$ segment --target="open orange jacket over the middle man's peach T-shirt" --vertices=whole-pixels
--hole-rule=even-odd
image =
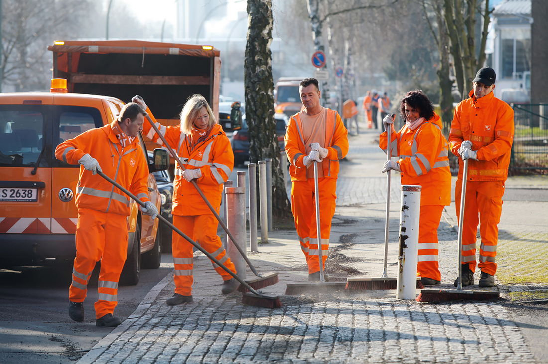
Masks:
[[[327,157],[322,161],[323,176],[336,178],[339,175],[339,160],[348,153],[347,130],[338,113],[327,109],[326,138],[317,142],[323,148],[327,148]],[[306,181],[306,166],[302,159],[310,152],[310,147],[305,146],[302,135],[302,120],[299,114],[289,119],[286,131],[286,153],[291,165],[289,174],[292,181]],[[319,166],[318,166],[319,167]]]

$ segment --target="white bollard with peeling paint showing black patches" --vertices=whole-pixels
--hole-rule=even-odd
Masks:
[[[420,186],[402,186],[399,215],[397,299],[416,298],[419,261]]]

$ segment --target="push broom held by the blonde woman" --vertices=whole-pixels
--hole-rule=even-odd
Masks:
[[[135,97],[139,97],[141,100],[142,100],[142,97],[141,96],[135,96]],[[158,127],[156,126],[156,124],[152,121],[152,119],[150,118],[149,115],[146,115],[146,118],[147,120],[149,120],[149,123],[150,125],[152,126],[152,129],[154,129],[156,131],[156,134],[158,134],[158,136],[161,138],[162,142],[164,143],[165,147],[167,147],[169,153],[173,156],[173,158],[177,161],[177,163],[179,163],[179,166],[181,167],[181,169],[184,171],[185,170],[185,167],[182,165],[182,162],[181,160],[179,159],[179,156],[175,153],[175,151],[173,150],[173,148],[169,145],[169,143],[167,142],[167,140],[165,140],[165,137],[163,136],[163,134],[158,130]],[[249,258],[247,257],[246,255],[246,252],[243,251],[242,247],[239,246],[239,244],[236,244],[236,239],[234,238],[234,236],[232,235],[232,233],[229,231],[229,228],[226,226],[225,222],[222,221],[221,217],[219,216],[219,214],[217,213],[217,211],[215,211],[215,209],[213,208],[213,206],[209,203],[208,199],[206,198],[206,195],[204,195],[204,193],[202,192],[202,189],[199,188],[198,184],[196,183],[195,180],[192,180],[190,181],[190,183],[192,183],[192,186],[194,186],[194,188],[196,188],[198,194],[202,197],[202,199],[204,200],[204,202],[206,203],[206,205],[209,207],[209,210],[213,213],[213,215],[215,216],[215,218],[217,219],[217,221],[219,222],[219,224],[221,225],[222,229],[225,230],[226,234],[229,235],[229,238],[230,240],[232,240],[234,242],[234,246],[236,247],[236,249],[239,251],[239,253],[242,255],[242,257],[244,258],[244,260],[246,261],[247,265],[249,266],[249,269],[251,269],[251,271],[253,272],[253,274],[255,275],[255,278],[254,279],[250,279],[248,280],[248,285],[249,286],[252,286],[253,288],[255,288],[256,290],[259,290],[260,288],[264,288],[264,287],[268,287],[268,286],[272,286],[272,285],[275,285],[278,283],[279,279],[278,279],[278,273],[277,272],[272,272],[272,271],[269,271],[265,274],[259,274],[257,273],[257,270],[255,269],[255,267],[253,266],[253,264],[251,263],[251,261],[249,260]],[[241,292],[244,292],[245,287],[242,286],[241,287]]]

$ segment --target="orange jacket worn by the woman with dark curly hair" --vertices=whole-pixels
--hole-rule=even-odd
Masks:
[[[449,149],[441,126],[441,119],[434,114],[415,130],[403,125],[390,135],[391,154],[399,156],[401,183],[423,187],[421,205],[451,204]],[[386,131],[379,137],[379,147],[386,152]]]

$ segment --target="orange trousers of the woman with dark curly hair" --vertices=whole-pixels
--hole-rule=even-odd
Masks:
[[[419,221],[419,263],[417,276],[441,281],[438,262],[438,227],[443,206],[420,206]]]

